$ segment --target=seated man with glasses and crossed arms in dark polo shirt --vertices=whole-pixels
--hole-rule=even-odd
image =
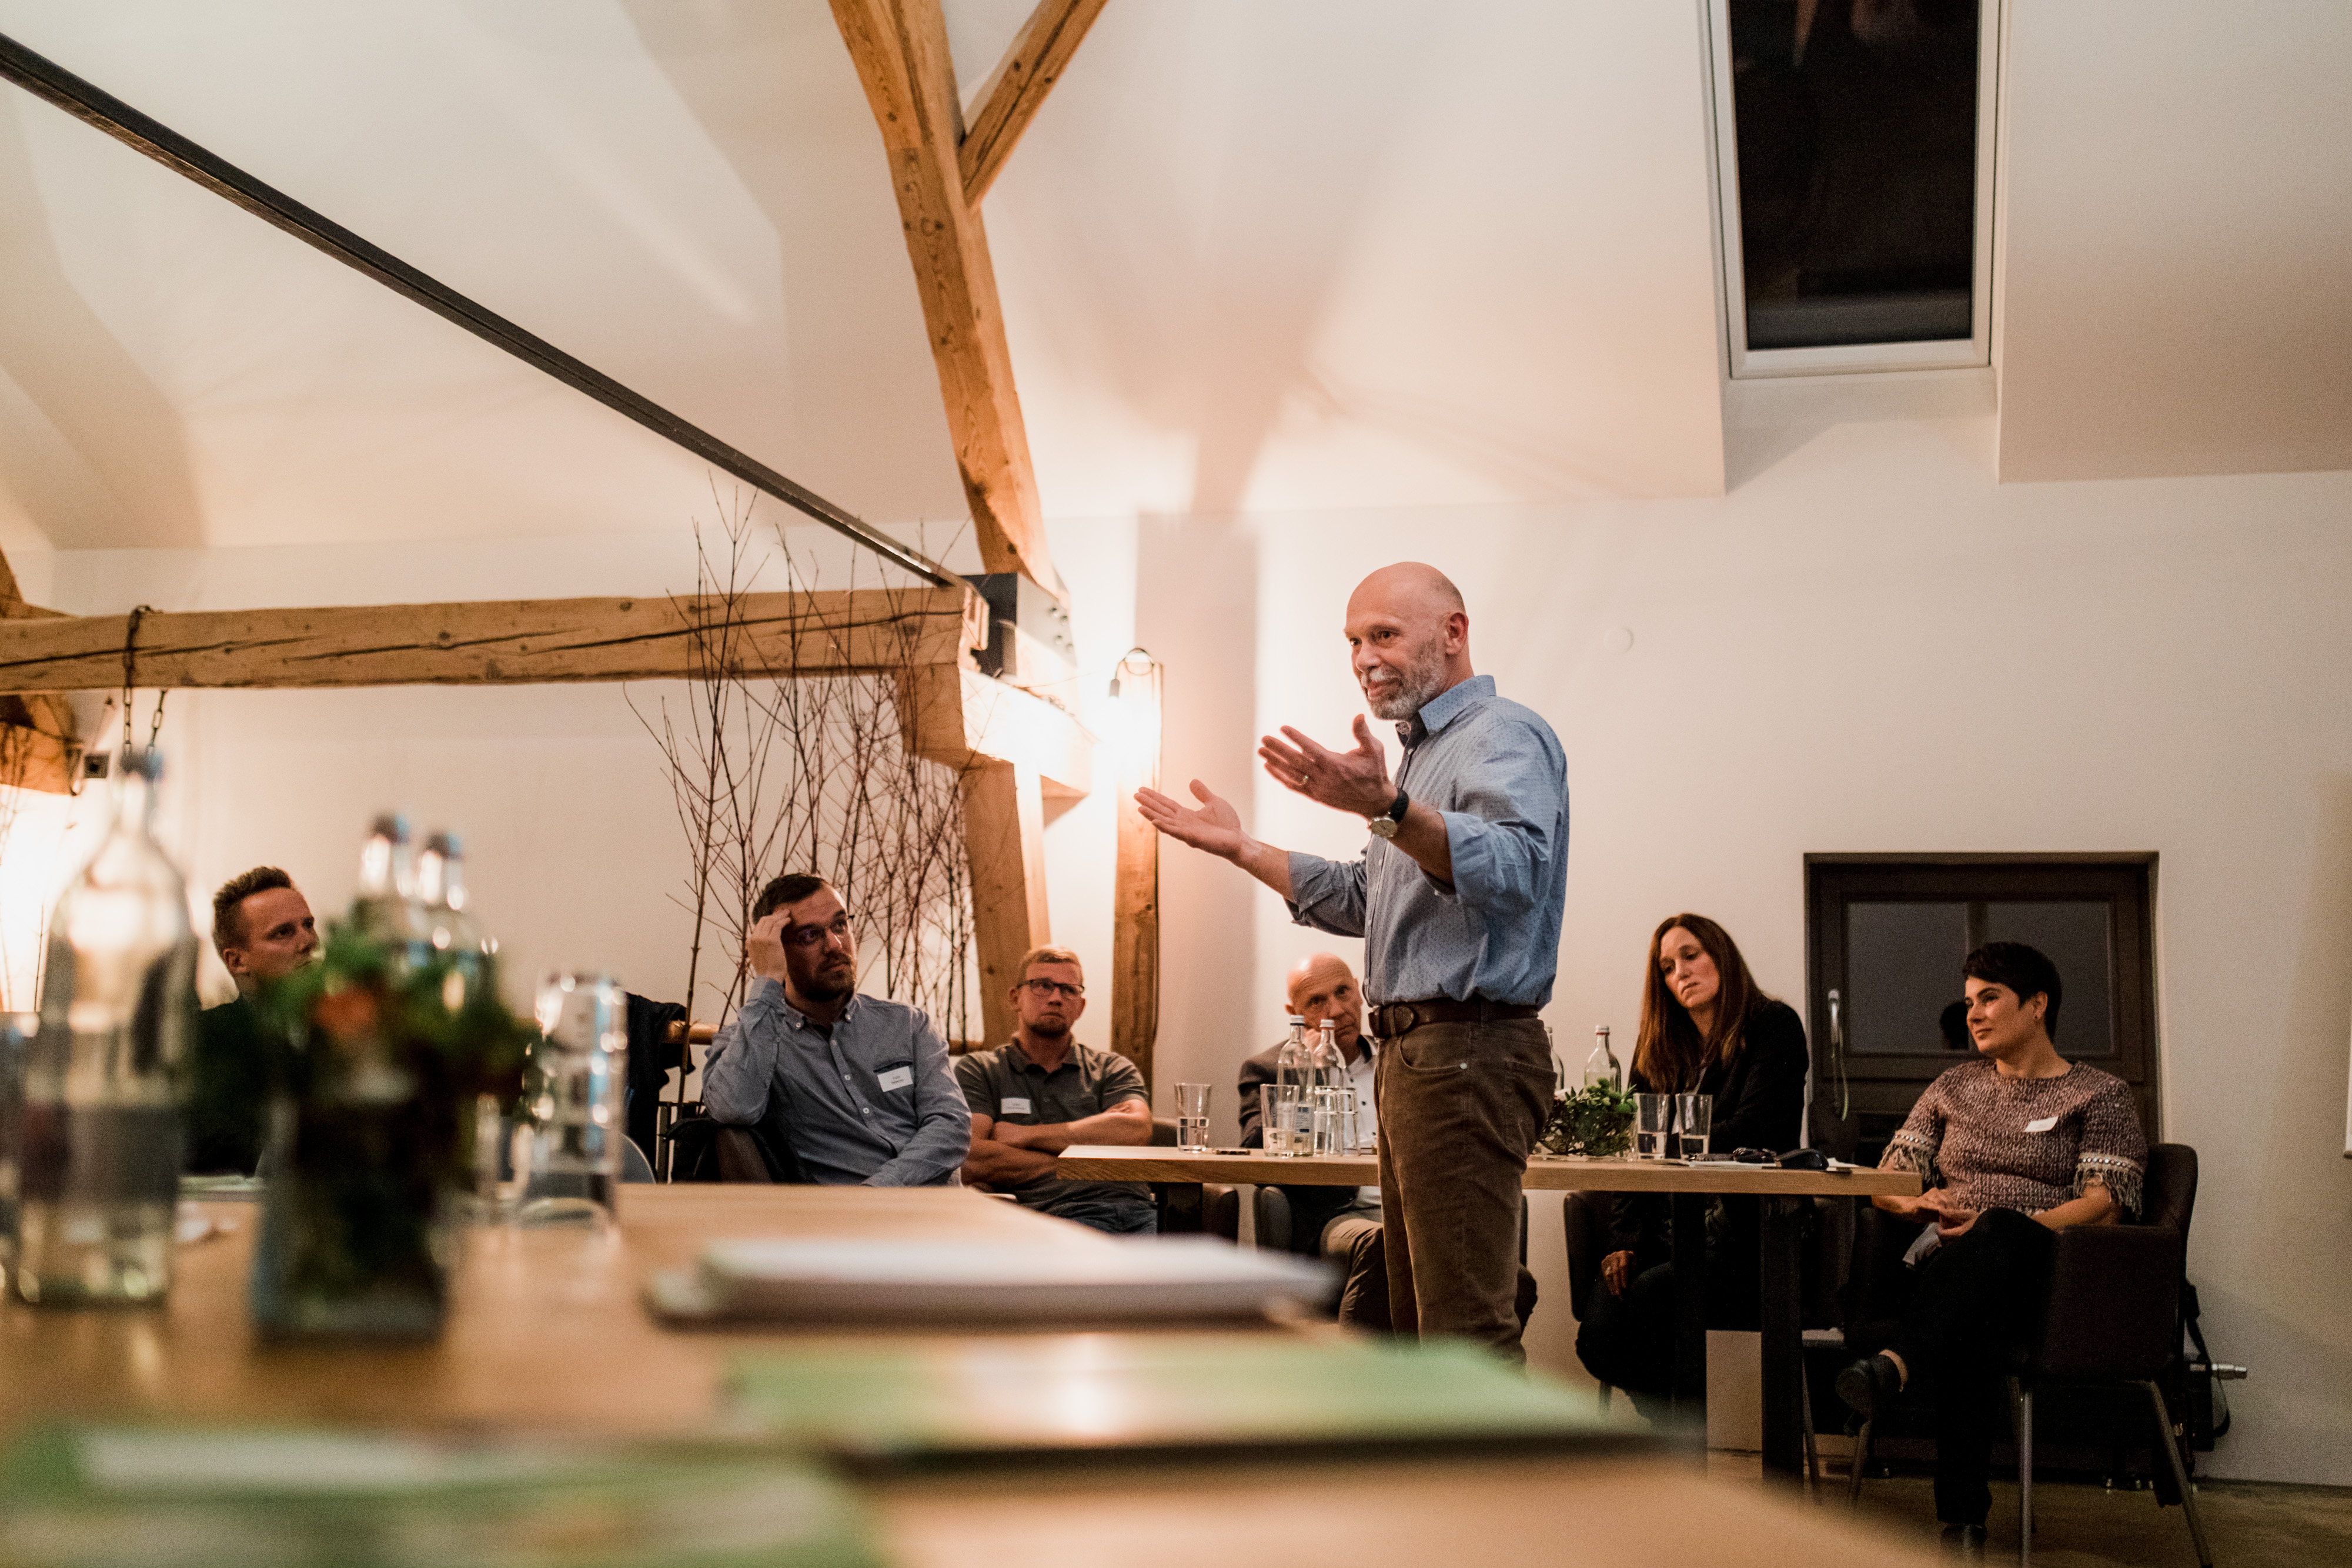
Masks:
[[[1021,1199],[1023,1208],[1122,1237],[1160,1229],[1143,1182],[1065,1182],[1054,1157],[1075,1143],[1150,1143],[1152,1103],[1124,1056],[1070,1039],[1087,1011],[1087,976],[1068,947],[1033,947],[1014,985],[1021,1025],[1009,1046],[955,1058],[971,1105],[964,1180]]]

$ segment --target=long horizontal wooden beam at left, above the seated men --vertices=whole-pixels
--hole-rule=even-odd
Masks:
[[[47,616],[47,611],[42,611]],[[127,616],[0,618],[0,691],[122,684]],[[148,614],[141,686],[532,686],[960,668],[988,642],[969,588],[755,592],[734,602],[496,599]],[[717,654],[715,654],[717,649]]]

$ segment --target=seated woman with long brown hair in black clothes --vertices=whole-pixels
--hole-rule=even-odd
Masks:
[[[1792,1150],[1804,1128],[1804,1025],[1757,990],[1731,933],[1705,914],[1668,917],[1649,938],[1637,1093],[1715,1095],[1715,1150]],[[1576,1356],[1649,1408],[1675,1385],[1670,1206],[1656,1192],[1613,1204],[1616,1248],[1578,1302]],[[1708,1213],[1708,1326],[1757,1324],[1757,1206],[1717,1199]]]

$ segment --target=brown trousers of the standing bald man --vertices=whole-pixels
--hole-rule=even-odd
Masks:
[[[1552,1110],[1543,1020],[1421,1025],[1381,1048],[1376,1093],[1390,1324],[1524,1359],[1519,1182]]]

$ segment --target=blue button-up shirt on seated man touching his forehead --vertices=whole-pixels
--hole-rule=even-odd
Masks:
[[[783,1114],[809,1175],[849,1187],[941,1187],[971,1152],[971,1110],[948,1046],[920,1011],[851,997],[833,1030],[814,1027],[774,980],[757,980],[703,1060],[715,1121]]]

